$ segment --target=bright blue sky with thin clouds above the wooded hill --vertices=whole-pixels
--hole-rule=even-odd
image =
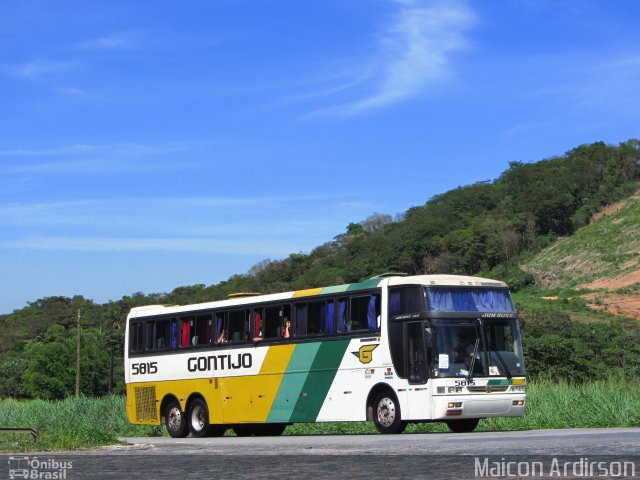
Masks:
[[[638,20],[633,0],[2,2],[0,313],[218,283],[637,138]]]

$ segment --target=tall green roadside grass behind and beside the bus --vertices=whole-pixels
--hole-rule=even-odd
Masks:
[[[609,379],[570,385],[549,380],[527,386],[524,418],[492,418],[478,430],[530,430],[548,428],[640,427],[640,381]],[[156,426],[131,425],[125,415],[125,399],[67,398],[58,401],[3,400],[0,425],[34,427],[40,440],[30,435],[0,434],[0,450],[11,452],[75,450],[117,444],[117,437],[166,436]],[[287,435],[355,435],[375,433],[368,422],[296,424]],[[442,423],[409,425],[407,432],[446,432]]]

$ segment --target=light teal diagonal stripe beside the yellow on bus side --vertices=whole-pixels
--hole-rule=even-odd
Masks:
[[[288,422],[316,358],[320,342],[299,343],[293,350],[267,422]]]

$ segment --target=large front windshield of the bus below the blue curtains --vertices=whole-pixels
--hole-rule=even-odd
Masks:
[[[525,374],[515,319],[433,319],[432,333],[436,377]]]

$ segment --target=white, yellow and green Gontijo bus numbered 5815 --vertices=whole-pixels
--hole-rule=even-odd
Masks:
[[[383,274],[360,283],[134,308],[127,415],[173,437],[278,435],[297,422],[373,421],[454,432],[525,412],[506,284]]]

